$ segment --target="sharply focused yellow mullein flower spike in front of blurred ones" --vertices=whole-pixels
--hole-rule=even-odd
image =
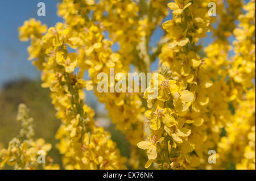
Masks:
[[[162,169],[190,169],[201,164],[207,153],[208,89],[213,85],[203,58],[199,56],[201,37],[205,37],[210,18],[205,1],[168,3],[172,20],[163,23],[168,43],[159,54],[162,69],[158,77],[158,97],[151,99],[152,87],[144,93],[150,120],[151,142],[139,142],[147,149],[148,162]],[[154,82],[152,83],[154,84]]]

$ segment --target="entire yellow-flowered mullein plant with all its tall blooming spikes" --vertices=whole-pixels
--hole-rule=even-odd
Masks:
[[[217,16],[209,13],[211,2]],[[255,0],[63,0],[57,13],[63,23],[47,29],[27,20],[19,38],[30,40],[28,60],[42,71],[62,121],[56,138],[64,169],[255,169]],[[164,33],[152,46],[157,27]],[[209,32],[213,41],[203,48]],[[131,65],[147,73],[157,59],[158,81],[152,78],[143,94],[97,91],[99,73],[127,75]],[[84,89],[94,89],[126,135],[130,159],[95,124]],[[2,165],[29,169],[34,157],[17,154],[10,162],[11,150],[1,151]],[[209,150],[216,164],[208,163]]]

